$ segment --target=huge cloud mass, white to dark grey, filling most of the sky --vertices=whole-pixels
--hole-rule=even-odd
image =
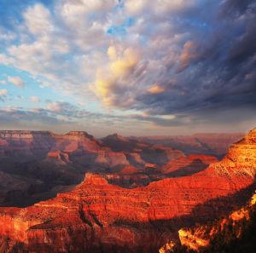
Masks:
[[[1,30],[0,63],[29,72],[41,87],[103,107],[108,118],[117,110],[137,112],[137,122],[207,125],[211,114],[230,112],[238,121],[241,111],[251,118],[256,110],[253,0],[28,5],[19,20],[12,17],[19,25]],[[63,101],[44,110],[105,118]],[[224,117],[215,119],[222,124]]]

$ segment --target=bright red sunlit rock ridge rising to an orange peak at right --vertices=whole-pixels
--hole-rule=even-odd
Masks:
[[[69,193],[24,209],[0,208],[2,242],[8,238],[23,252],[157,252],[180,227],[227,212],[235,194],[248,197],[255,139],[253,129],[221,162],[193,175],[126,189],[87,174]]]

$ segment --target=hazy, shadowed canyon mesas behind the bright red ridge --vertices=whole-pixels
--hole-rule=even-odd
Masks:
[[[116,134],[96,140],[81,131],[0,131],[0,206],[24,207],[53,198],[83,181],[85,172],[132,188],[204,170],[216,156],[185,155]],[[127,173],[129,167],[136,172]]]

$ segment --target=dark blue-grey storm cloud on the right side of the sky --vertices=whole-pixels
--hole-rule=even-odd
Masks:
[[[207,120],[220,112],[245,119],[241,110],[248,118],[255,117],[256,5],[241,2],[226,1],[206,26],[197,27],[183,43],[177,72],[172,72],[173,67],[164,72],[165,78],[177,78],[176,85],[161,82],[164,93],[137,94],[133,106],[154,114],[180,113]]]

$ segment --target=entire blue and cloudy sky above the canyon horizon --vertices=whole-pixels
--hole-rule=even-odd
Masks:
[[[0,0],[0,129],[256,127],[256,1]]]

